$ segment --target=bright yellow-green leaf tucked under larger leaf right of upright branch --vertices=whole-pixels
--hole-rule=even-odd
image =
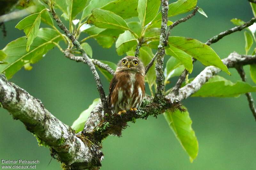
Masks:
[[[167,55],[171,55],[177,58],[185,68],[191,73],[193,70],[193,61],[191,55],[186,53],[185,51],[174,47],[173,45],[169,44],[170,48],[165,50]]]

